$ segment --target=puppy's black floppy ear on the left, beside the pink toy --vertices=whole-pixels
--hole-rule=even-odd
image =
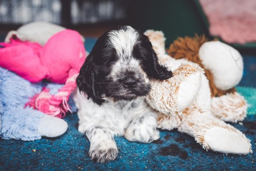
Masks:
[[[95,64],[93,62],[94,52],[87,56],[86,61],[80,69],[78,78],[76,78],[76,84],[78,85],[79,91],[87,93],[88,99],[91,98],[94,103],[101,105],[104,100],[101,95],[100,85],[95,80]]]

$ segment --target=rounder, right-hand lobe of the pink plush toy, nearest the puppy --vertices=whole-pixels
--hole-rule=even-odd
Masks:
[[[64,84],[71,69],[79,72],[86,59],[86,51],[81,35],[73,30],[65,30],[48,40],[41,56],[44,56],[41,58],[43,66],[47,66],[50,72],[47,79]]]

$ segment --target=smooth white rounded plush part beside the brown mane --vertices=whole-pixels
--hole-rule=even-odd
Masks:
[[[233,47],[219,42],[205,42],[198,52],[202,64],[213,74],[218,89],[228,90],[237,86],[243,76],[243,59]]]

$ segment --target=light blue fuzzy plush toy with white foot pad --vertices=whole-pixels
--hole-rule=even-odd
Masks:
[[[31,84],[0,68],[0,137],[32,141],[41,136],[56,137],[66,132],[66,121],[32,108],[23,108],[29,97],[41,90],[42,85]]]

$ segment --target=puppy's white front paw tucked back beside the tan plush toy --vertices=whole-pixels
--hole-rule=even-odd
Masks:
[[[139,122],[135,121],[125,130],[124,137],[129,141],[151,143],[159,139],[159,131],[156,129],[156,122],[149,124],[143,117]]]

